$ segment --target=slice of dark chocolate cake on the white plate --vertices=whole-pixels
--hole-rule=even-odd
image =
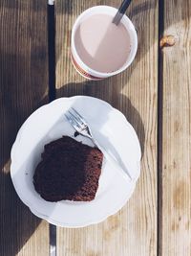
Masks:
[[[48,201],[90,201],[96,197],[103,154],[63,136],[47,145],[33,175],[35,190]]]

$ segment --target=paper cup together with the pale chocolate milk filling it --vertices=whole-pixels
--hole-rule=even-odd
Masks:
[[[134,60],[138,36],[131,20],[117,9],[96,6],[82,12],[72,31],[72,61],[77,72],[89,80],[105,79],[125,70]]]

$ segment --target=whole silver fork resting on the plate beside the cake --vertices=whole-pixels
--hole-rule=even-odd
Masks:
[[[92,142],[96,145],[96,147],[103,152],[106,159],[110,162],[112,162],[116,167],[117,170],[120,169],[122,171],[123,175],[126,174],[132,180],[132,176],[129,174],[128,170],[122,170],[122,168],[117,163],[117,160],[110,155],[109,152],[107,152],[102,146],[99,145],[99,143],[96,141],[96,139],[93,137],[91,128],[88,126],[88,123],[85,121],[85,119],[74,109],[74,107],[71,107],[65,114],[64,114],[69,121],[69,123],[72,125],[72,127],[81,135],[88,137],[92,140]]]

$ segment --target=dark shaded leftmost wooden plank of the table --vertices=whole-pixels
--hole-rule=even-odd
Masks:
[[[18,128],[48,90],[47,4],[0,1],[0,255],[48,255],[49,225],[16,195],[10,152]]]

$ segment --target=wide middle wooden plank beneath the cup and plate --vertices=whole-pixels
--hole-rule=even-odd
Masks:
[[[128,15],[138,30],[138,54],[131,67],[104,81],[85,81],[70,59],[76,16],[87,8],[121,1],[55,1],[56,95],[91,95],[122,111],[137,130],[141,175],[133,197],[107,221],[78,229],[57,229],[57,255],[157,255],[158,1],[133,1]]]

